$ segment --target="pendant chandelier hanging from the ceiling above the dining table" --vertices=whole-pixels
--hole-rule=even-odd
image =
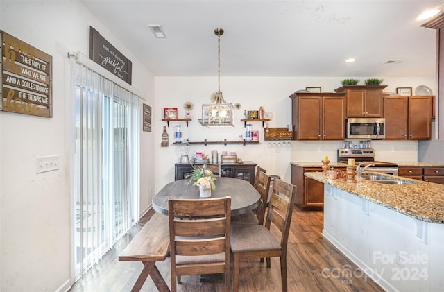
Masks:
[[[222,28],[216,28],[214,34],[217,35],[217,82],[218,90],[210,96],[211,103],[202,105],[202,119],[199,119],[202,126],[232,126],[234,127],[234,107],[231,103],[227,103],[221,92],[221,35]]]

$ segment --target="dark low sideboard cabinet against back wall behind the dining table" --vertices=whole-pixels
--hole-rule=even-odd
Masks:
[[[174,180],[183,180],[187,178],[187,175],[193,170],[193,166],[202,166],[203,164],[182,164],[176,163],[176,174]],[[239,178],[240,180],[246,180],[250,184],[255,184],[256,165],[254,162],[244,163],[232,163],[232,164],[208,164],[208,165],[220,165],[221,176],[228,178]]]

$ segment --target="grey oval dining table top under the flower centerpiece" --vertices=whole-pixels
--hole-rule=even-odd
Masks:
[[[210,198],[231,196],[231,215],[244,214],[257,207],[260,194],[245,180],[238,178],[216,178],[216,189],[211,190]],[[200,199],[199,187],[188,184],[188,179],[176,180],[163,187],[153,198],[155,212],[168,215],[169,198]]]

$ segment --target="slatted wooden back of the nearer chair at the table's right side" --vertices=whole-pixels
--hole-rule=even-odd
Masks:
[[[280,245],[287,249],[289,238],[291,215],[293,214],[293,205],[296,200],[296,186],[276,179],[273,182],[270,204],[265,221],[265,227],[270,229],[273,223],[282,233]]]

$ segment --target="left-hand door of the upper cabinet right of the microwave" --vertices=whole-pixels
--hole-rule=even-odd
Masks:
[[[386,139],[407,139],[408,112],[407,96],[384,97]]]

